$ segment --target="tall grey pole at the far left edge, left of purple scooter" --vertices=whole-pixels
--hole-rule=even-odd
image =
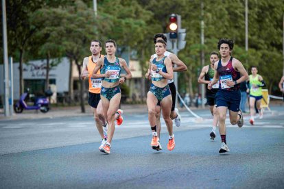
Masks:
[[[8,68],[8,45],[7,45],[7,23],[6,4],[2,0],[2,23],[3,23],[3,61],[4,61],[4,114],[10,116],[9,111],[9,68]]]

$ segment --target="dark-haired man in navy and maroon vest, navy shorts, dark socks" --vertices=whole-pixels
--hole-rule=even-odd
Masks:
[[[220,80],[220,87],[216,94],[217,112],[219,114],[219,132],[221,135],[222,146],[219,153],[228,152],[226,143],[226,114],[229,110],[230,123],[237,124],[239,127],[244,125],[244,118],[239,110],[241,101],[241,92],[239,91],[240,83],[248,79],[248,73],[239,62],[239,60],[231,56],[234,47],[233,40],[221,39],[217,45],[221,60],[218,64],[214,64],[215,75],[208,88],[211,89],[217,81]]]

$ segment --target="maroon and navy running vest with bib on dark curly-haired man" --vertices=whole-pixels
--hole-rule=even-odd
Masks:
[[[221,59],[218,62],[217,72],[220,76],[220,90],[239,90],[240,84],[237,84],[233,87],[226,86],[227,81],[236,81],[241,77],[238,71],[235,71],[232,63],[233,57],[230,57],[230,60],[226,66],[222,66]]]

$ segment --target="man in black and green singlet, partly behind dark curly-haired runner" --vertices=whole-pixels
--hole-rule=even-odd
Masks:
[[[214,77],[214,63],[219,61],[219,57],[218,57],[218,53],[216,52],[212,52],[210,55],[210,62],[211,64],[204,66],[202,68],[202,71],[200,73],[200,76],[198,78],[198,83],[200,84],[206,84],[206,88],[208,86],[208,84],[211,83],[211,80]],[[205,77],[205,78],[204,78]],[[206,99],[207,99],[207,103],[209,105],[211,114],[213,116],[213,128],[212,131],[210,133],[210,139],[214,140],[214,138],[216,137],[216,127],[217,127],[217,123],[218,123],[218,114],[217,114],[217,108],[216,108],[216,98],[215,95],[218,91],[219,88],[219,82],[217,82],[217,84],[215,84],[215,86],[213,86],[213,89],[209,90],[207,88],[206,90]]]

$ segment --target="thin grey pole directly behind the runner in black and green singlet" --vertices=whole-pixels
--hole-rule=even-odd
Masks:
[[[205,60],[204,60],[204,12],[203,12],[204,4],[203,1],[201,1],[201,66],[203,68]],[[204,90],[204,84],[201,84],[201,106],[204,108],[204,96],[205,96],[205,90]]]

